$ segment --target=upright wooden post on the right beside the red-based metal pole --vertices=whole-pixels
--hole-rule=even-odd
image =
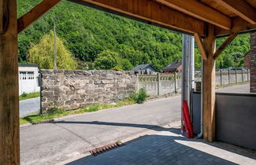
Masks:
[[[214,27],[209,25],[208,35],[204,38],[207,60],[202,63],[202,108],[203,138],[214,141],[215,138],[215,61],[213,52],[216,48]]]

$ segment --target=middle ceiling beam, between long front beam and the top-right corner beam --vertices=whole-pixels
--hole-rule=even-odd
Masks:
[[[231,29],[231,18],[218,12],[209,6],[204,5],[202,2],[197,0],[156,0],[169,6],[173,9],[177,9],[180,12],[187,13],[190,16],[194,16],[200,20],[204,20],[210,24],[214,24],[218,27],[226,30]]]

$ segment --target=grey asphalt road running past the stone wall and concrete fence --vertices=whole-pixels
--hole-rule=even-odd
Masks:
[[[218,91],[246,91],[248,85]],[[54,164],[180,119],[180,96],[20,127],[21,164]]]

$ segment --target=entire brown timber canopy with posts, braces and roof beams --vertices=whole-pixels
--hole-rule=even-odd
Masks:
[[[195,35],[204,68],[203,137],[214,140],[215,60],[236,35],[256,30],[256,0],[69,1]],[[17,35],[58,2],[43,0],[17,19],[17,0],[0,0],[0,164],[20,163]]]

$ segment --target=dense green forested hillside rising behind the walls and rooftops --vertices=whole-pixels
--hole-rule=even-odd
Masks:
[[[19,0],[18,16],[22,16],[39,2],[41,1]],[[180,33],[62,1],[20,33],[20,63],[28,62],[28,50],[31,46],[38,44],[43,35],[53,30],[54,16],[57,35],[77,61],[80,61],[79,68],[101,68],[102,61],[98,61],[111,58],[109,56],[114,56],[114,61],[122,69],[147,63],[161,69],[169,62],[181,60]],[[217,46],[220,46],[221,40],[223,38],[217,40]],[[249,35],[240,35],[222,53],[217,61],[217,68],[241,67],[243,54],[248,50]],[[201,57],[196,49],[196,68],[200,68],[200,63]]]

